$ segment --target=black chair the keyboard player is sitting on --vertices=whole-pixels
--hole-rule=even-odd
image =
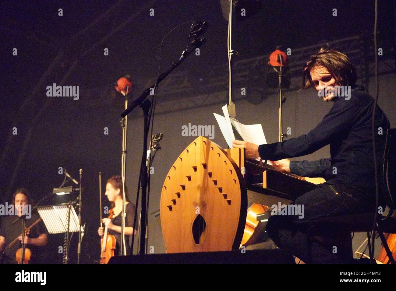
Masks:
[[[396,233],[396,218],[392,217],[394,210],[396,209],[396,129],[388,129],[386,132],[386,145],[385,152],[383,155],[383,167],[382,167],[382,183],[383,192],[380,193],[389,207],[390,211],[386,216],[378,215],[375,231],[381,238],[382,245],[385,247],[386,254],[388,255],[389,262],[395,263],[392,252],[389,249],[388,244],[384,236],[385,233]],[[373,213],[360,213],[353,215],[339,215],[334,217],[324,217],[316,219],[308,224],[308,236],[321,236],[328,234],[329,231],[335,233],[346,232],[349,235],[352,232],[367,232],[369,256],[373,257],[373,251],[370,247],[370,232],[373,229],[374,214]],[[373,234],[374,235],[374,234]],[[352,239],[347,242],[344,247],[347,249],[347,253],[352,259]]]

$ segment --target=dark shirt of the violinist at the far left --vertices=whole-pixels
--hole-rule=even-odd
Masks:
[[[22,233],[22,219],[15,221],[18,217],[16,215],[7,215],[2,217],[0,236],[6,239],[6,246],[9,245],[15,238],[17,238]],[[26,227],[32,225],[40,216],[37,212],[32,213],[30,219],[26,219]],[[33,226],[29,232],[29,238],[38,238],[40,234],[46,234],[46,227],[42,221]],[[12,247],[7,249],[4,253],[4,264],[16,264],[15,253],[21,248],[21,241],[14,243]],[[42,263],[42,247],[35,245],[27,245],[26,247],[30,249],[32,256],[30,263]]]

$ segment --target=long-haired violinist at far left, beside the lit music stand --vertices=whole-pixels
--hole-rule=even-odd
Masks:
[[[0,253],[4,252],[4,264],[16,264],[21,262],[23,219],[25,229],[32,226],[40,216],[37,212],[28,213],[32,209],[33,200],[25,188],[17,189],[12,198],[14,215],[4,215],[0,228]],[[29,206],[29,207],[27,207]],[[30,209],[30,210],[25,210]],[[10,213],[8,213],[10,214]],[[25,257],[24,263],[41,263],[42,248],[48,242],[45,225],[42,221],[36,223],[28,231],[25,231]],[[17,258],[19,260],[17,260]]]

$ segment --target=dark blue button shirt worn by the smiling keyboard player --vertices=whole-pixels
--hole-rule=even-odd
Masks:
[[[313,162],[291,161],[291,173],[305,177],[323,177],[326,184],[343,183],[375,197],[371,134],[374,99],[365,93],[364,87],[360,85],[351,86],[349,100],[345,97],[336,98],[330,112],[308,134],[282,143],[260,145],[259,155],[265,160],[281,160],[311,154],[330,145],[330,159]],[[379,179],[386,129],[389,127],[385,113],[377,107],[375,149]]]

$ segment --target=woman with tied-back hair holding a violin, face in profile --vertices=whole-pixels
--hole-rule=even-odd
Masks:
[[[105,195],[107,199],[111,202],[112,209],[109,210],[110,216],[108,218],[103,218],[102,223],[108,230],[108,235],[111,235],[116,240],[116,248],[114,251],[115,255],[122,255],[120,253],[121,245],[121,225],[122,225],[122,179],[120,176],[113,176],[107,180]],[[133,234],[133,220],[135,219],[135,205],[129,202],[128,190],[125,187],[125,245],[126,245],[126,255],[131,254],[131,248],[129,246],[129,237]],[[103,238],[105,233],[105,227],[101,226],[98,228],[98,234]],[[135,230],[136,234],[136,230]]]

